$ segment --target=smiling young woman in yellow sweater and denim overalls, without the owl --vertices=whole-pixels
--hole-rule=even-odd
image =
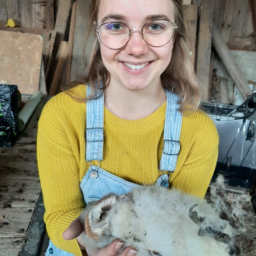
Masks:
[[[117,255],[119,239],[102,249],[84,245],[76,219],[86,203],[111,192],[158,183],[204,197],[218,134],[198,110],[181,2],[91,2],[89,74],[53,97],[38,125],[46,255],[82,255],[85,248],[88,255]],[[118,255],[135,254],[127,247]]]

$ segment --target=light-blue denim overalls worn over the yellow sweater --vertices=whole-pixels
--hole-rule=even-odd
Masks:
[[[181,133],[182,115],[177,111],[179,105],[178,95],[165,90],[167,104],[164,126],[163,153],[160,160],[160,171],[168,171],[168,174],[160,175],[157,184],[169,187],[170,172],[175,170],[180,150],[179,138]],[[100,95],[101,91],[98,91]],[[87,87],[87,97],[90,95],[90,86]],[[99,98],[86,103],[86,161],[98,161],[97,166],[90,164],[88,171],[83,177],[80,187],[83,198],[87,203],[96,201],[103,196],[115,193],[126,194],[139,185],[119,178],[99,167],[103,160],[103,113],[104,94]],[[50,240],[46,256],[74,256],[71,253],[58,249]]]

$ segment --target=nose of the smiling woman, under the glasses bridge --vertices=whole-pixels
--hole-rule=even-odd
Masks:
[[[132,29],[130,33],[130,39],[125,47],[126,53],[136,57],[145,54],[148,45],[142,37],[141,29]]]

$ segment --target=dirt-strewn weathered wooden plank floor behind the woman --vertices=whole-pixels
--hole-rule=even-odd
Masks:
[[[36,134],[37,126],[30,131],[29,137],[21,137],[12,148],[0,149],[0,255],[2,256],[32,256],[33,254],[22,253],[25,242],[29,240],[29,233],[32,232],[33,239],[38,233],[38,227],[34,230],[32,228],[31,231],[31,226],[34,226],[31,223],[43,222],[44,208],[42,208],[36,161]],[[239,190],[229,190],[229,197],[235,197],[237,192]],[[245,191],[240,190],[240,193]],[[35,215],[40,205],[41,215],[38,219]],[[243,225],[247,229],[246,237],[250,238],[250,241],[241,236],[241,245],[244,248],[241,256],[255,256],[256,215],[251,203],[246,203],[243,207],[247,212]],[[45,241],[41,255],[45,255],[47,236]]]

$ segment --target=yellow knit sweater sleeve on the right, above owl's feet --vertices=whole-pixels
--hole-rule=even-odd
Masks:
[[[210,117],[198,111],[190,117],[183,117],[181,141],[177,172],[175,170],[171,176],[172,184],[203,198],[218,158],[217,129]]]

